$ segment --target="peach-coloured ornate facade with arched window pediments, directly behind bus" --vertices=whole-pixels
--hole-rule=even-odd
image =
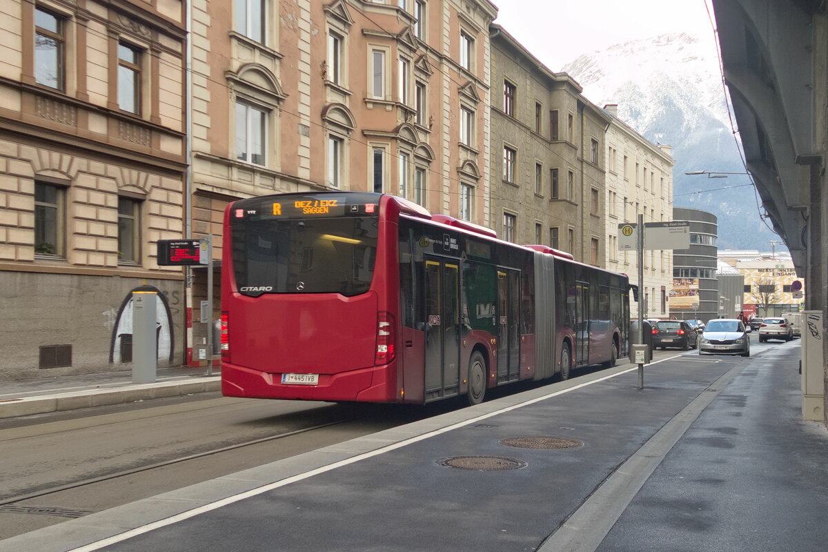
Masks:
[[[193,12],[194,238],[220,246],[233,199],[309,190],[396,194],[489,224],[491,2],[196,0]],[[197,271],[190,304],[204,281]]]

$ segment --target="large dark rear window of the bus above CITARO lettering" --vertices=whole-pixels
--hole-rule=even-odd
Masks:
[[[340,293],[368,291],[377,255],[378,218],[289,218],[233,223],[238,291]]]

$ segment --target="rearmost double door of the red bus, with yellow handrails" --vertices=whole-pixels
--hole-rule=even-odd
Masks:
[[[426,401],[459,391],[459,266],[426,260]]]

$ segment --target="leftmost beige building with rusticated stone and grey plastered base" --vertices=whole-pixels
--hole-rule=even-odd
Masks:
[[[181,359],[184,4],[0,0],[0,379],[123,369],[128,298]]]

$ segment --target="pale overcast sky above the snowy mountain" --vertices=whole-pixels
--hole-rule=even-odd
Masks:
[[[493,1],[495,23],[553,71],[581,54],[667,32],[713,40],[705,0]]]

